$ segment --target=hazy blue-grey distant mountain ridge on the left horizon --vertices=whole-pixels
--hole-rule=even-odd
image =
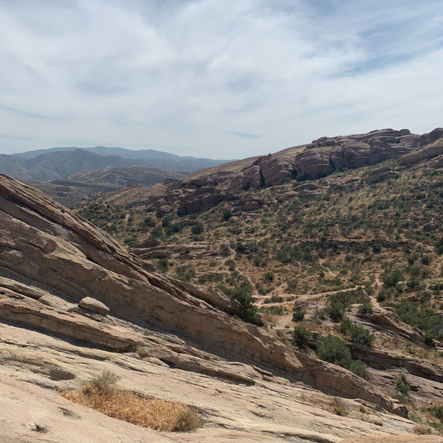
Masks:
[[[150,166],[166,171],[189,173],[218,166],[230,160],[180,157],[155,150],[131,151],[124,148],[61,147],[40,149],[12,155],[0,154],[0,173],[17,180],[45,182],[59,180],[85,171]],[[160,175],[162,175],[160,173]],[[166,175],[167,177],[168,175]]]

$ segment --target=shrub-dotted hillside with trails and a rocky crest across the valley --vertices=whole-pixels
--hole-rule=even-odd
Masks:
[[[286,345],[294,326],[313,357],[331,358],[322,337],[344,340],[364,362],[356,373],[441,431],[421,414],[443,402],[443,130],[387,131],[345,146],[336,143],[350,137],[319,139],[293,157],[246,159],[77,211],[173,278],[253,297]],[[339,164],[337,146],[348,166],[333,170],[322,159]]]

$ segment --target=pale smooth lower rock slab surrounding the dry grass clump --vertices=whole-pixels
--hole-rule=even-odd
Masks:
[[[151,343],[148,352],[169,352],[169,359],[178,359],[181,354],[185,358],[179,364],[187,368],[167,367],[157,357],[139,359],[133,353],[80,347],[8,324],[0,323],[0,332],[2,338],[7,337],[7,341],[0,341],[0,392],[7,394],[2,395],[0,408],[4,443],[31,443],[35,439],[54,443],[339,443],[364,435],[407,438],[415,425],[365,403],[369,415],[382,419],[380,427],[362,416],[359,402],[346,399],[340,401],[348,416],[338,416],[327,408],[320,409],[318,405],[331,399],[311,388],[288,383],[253,366],[215,361],[198,351],[190,359],[191,349],[177,346],[174,351],[171,343],[151,337],[146,338]],[[209,372],[191,370],[197,358]],[[57,393],[77,388],[104,370],[120,376],[122,387],[139,395],[192,405],[203,415],[204,427],[191,433],[158,433],[71,403]],[[228,371],[229,377],[240,374],[249,379],[236,381],[226,378],[222,371]],[[30,421],[48,432],[35,434],[26,425]]]

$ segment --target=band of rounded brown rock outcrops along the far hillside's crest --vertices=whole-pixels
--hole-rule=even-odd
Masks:
[[[152,196],[146,204],[155,208],[158,217],[175,210],[179,216],[213,208],[221,201],[235,202],[238,195],[247,190],[258,190],[266,186],[279,186],[296,178],[299,181],[326,177],[334,171],[371,166],[391,158],[401,158],[400,165],[413,164],[423,159],[442,155],[440,148],[430,148],[442,137],[442,128],[429,134],[411,134],[408,129],[380,129],[366,134],[320,137],[302,151],[292,155],[271,155],[251,160],[242,168],[216,168],[202,173],[198,178],[164,182],[159,195]],[[429,167],[440,168],[443,159],[436,159]],[[232,164],[231,164],[232,166]],[[395,170],[386,171],[369,183],[396,178]],[[288,198],[314,198],[321,192],[302,192]],[[242,207],[246,211],[259,209],[255,203]]]

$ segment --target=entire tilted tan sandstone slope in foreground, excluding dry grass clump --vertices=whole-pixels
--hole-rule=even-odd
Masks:
[[[239,319],[241,302],[159,274],[92,223],[4,175],[0,221],[4,442],[442,441],[414,438],[436,431],[417,428],[408,409],[371,381],[276,339],[258,326],[260,316],[255,324]],[[408,333],[398,319],[378,318]],[[412,360],[405,366],[422,375]],[[137,398],[192,406],[203,427],[159,434],[64,398],[102,371],[121,377]],[[438,369],[428,374],[440,380]],[[426,384],[430,398],[439,382]]]

